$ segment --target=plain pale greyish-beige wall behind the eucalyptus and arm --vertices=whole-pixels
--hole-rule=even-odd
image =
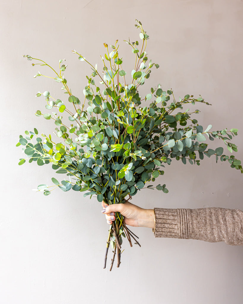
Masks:
[[[130,73],[133,54],[123,39],[139,40],[137,18],[150,35],[149,56],[160,65],[140,94],[158,83],[173,88],[177,98],[201,94],[212,105],[192,106],[201,110],[195,118],[205,128],[238,128],[235,155],[243,160],[242,0],[2,0],[0,7],[1,303],[242,303],[243,247],[224,242],[154,238],[152,230],[134,228],[142,247],[130,248],[125,240],[120,268],[103,269],[108,225],[101,204],[74,191],[57,189],[48,197],[31,191],[52,184],[57,174],[51,166],[19,167],[23,156],[15,147],[25,130],[54,128],[34,115],[45,111],[45,100],[35,98],[36,92],[66,96],[56,82],[33,78],[40,69],[51,73],[21,55],[56,67],[66,58],[66,78],[82,98],[91,72],[71,50],[101,67],[103,43],[119,39]],[[242,178],[214,157],[200,166],[174,161],[158,180],[166,183],[167,195],[144,189],[132,202],[145,208],[242,210]]]

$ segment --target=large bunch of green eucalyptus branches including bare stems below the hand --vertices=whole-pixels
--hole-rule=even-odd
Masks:
[[[33,66],[47,66],[52,72],[51,76],[38,72],[34,77],[52,78],[62,84],[67,94],[61,99],[54,99],[48,91],[36,94],[36,97],[44,96],[46,109],[53,112],[37,110],[35,115],[52,119],[56,125],[56,136],[39,136],[36,128],[34,132],[25,131],[25,137],[19,136],[17,146],[24,146],[26,154],[19,165],[24,164],[26,159],[29,163],[36,161],[39,166],[51,163],[56,173],[68,176],[61,182],[52,178],[54,185],[39,185],[36,191],[49,195],[57,187],[63,191],[73,189],[85,192],[84,197],[96,195],[98,202],[103,200],[107,204],[118,204],[124,203],[127,195],[131,198],[142,188],[156,188],[167,193],[165,184],[156,187],[145,185],[163,175],[163,167],[172,160],[200,165],[205,156],[215,155],[216,162],[228,161],[232,168],[243,172],[241,161],[233,155],[223,154],[222,147],[207,149],[208,144],[204,143],[206,135],[209,140],[222,140],[229,152],[237,151],[230,140],[238,130],[210,131],[211,125],[204,130],[197,119],[191,118],[192,114],[200,111],[189,112],[189,109],[183,108],[186,104],[195,105],[198,102],[209,105],[200,95],[198,98],[185,95],[176,100],[172,89],[166,91],[160,84],[152,87],[145,97],[139,95],[139,86],[149,78],[152,67],[158,68],[159,64],[148,59],[146,46],[149,36],[141,22],[136,22],[142,46],[139,49],[138,41],[125,41],[135,57],[131,74],[122,68],[118,40],[111,45],[111,50],[104,43],[106,54],[101,57],[103,71],[76,50],[72,51],[80,61],[90,64],[92,70],[91,75],[86,76],[87,86],[83,90],[82,102],[81,98],[72,94],[64,78],[67,68],[65,59],[59,60],[59,68],[55,70],[43,60],[24,55],[27,60],[36,61]],[[142,107],[142,103],[146,105]],[[117,212],[115,223],[109,228],[104,268],[110,244],[114,252],[111,268],[115,254],[119,267],[122,237],[127,237],[131,246],[132,238],[140,246],[138,237],[128,229],[123,216]]]

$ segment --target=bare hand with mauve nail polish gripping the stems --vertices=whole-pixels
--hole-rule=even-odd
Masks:
[[[105,214],[108,224],[112,224],[115,220],[115,212],[120,212],[124,216],[126,225],[133,227],[148,227],[154,228],[154,210],[143,209],[129,202],[124,204],[107,205],[102,202],[104,209],[101,211]]]

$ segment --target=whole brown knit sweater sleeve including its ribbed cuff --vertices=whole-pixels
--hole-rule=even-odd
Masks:
[[[243,211],[238,209],[154,208],[155,237],[224,241],[243,246]]]

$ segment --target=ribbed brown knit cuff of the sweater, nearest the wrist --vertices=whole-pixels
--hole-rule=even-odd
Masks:
[[[186,209],[154,208],[155,237],[189,238],[188,214]]]

